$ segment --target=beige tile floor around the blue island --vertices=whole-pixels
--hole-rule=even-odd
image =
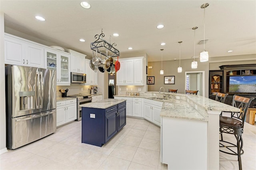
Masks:
[[[245,124],[244,170],[256,170],[256,126]],[[228,136],[224,136],[229,138]],[[0,155],[1,170],[160,170],[160,128],[136,118],[102,147],[81,143],[81,121]],[[236,170],[236,156],[220,152],[220,170]]]

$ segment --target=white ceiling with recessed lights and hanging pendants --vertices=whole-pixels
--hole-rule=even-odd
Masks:
[[[148,61],[196,57],[205,49],[210,57],[256,54],[256,0],[87,0],[90,9],[80,6],[81,0],[0,0],[5,13],[6,30],[18,30],[39,38],[47,46],[61,46],[92,56],[90,43],[103,29],[105,40],[116,43],[120,58],[148,54]],[[40,15],[45,22],[35,19]],[[164,28],[157,29],[158,24]],[[11,28],[11,29],[10,29]],[[117,32],[120,36],[114,37]],[[19,35],[18,35],[19,36]],[[86,42],[80,42],[84,38]],[[165,46],[160,43],[165,42]],[[41,43],[41,42],[39,42]],[[128,47],[133,50],[128,50]],[[233,52],[228,53],[228,50]]]

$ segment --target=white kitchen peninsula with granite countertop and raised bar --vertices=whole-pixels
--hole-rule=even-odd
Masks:
[[[159,92],[129,96],[142,98],[142,108],[145,100],[162,101],[161,162],[172,170],[219,169],[219,115],[240,109],[202,96],[165,94],[168,99],[158,100],[163,96]]]

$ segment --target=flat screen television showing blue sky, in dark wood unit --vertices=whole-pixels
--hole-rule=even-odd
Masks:
[[[230,76],[228,92],[230,93],[256,93],[256,75]]]

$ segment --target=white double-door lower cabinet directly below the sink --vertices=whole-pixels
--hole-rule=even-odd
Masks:
[[[155,100],[144,99],[144,118],[157,124],[161,125],[160,112],[162,109],[163,102],[157,102]]]

